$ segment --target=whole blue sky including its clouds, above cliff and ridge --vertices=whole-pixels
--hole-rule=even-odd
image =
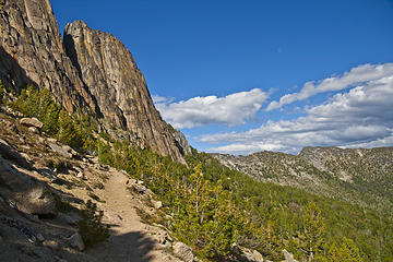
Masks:
[[[51,0],[132,52],[200,151],[393,145],[393,1]]]

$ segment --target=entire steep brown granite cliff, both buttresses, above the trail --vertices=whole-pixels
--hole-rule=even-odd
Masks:
[[[93,114],[103,129],[117,127],[140,146],[184,163],[175,134],[160,118],[130,51],[112,35],[84,22],[61,39],[49,0],[2,1],[0,79],[20,92],[51,91],[68,111]]]

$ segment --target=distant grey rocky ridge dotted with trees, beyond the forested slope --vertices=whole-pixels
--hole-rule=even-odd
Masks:
[[[260,152],[213,156],[260,181],[293,186],[373,209],[393,206],[393,147],[305,147],[299,155]]]

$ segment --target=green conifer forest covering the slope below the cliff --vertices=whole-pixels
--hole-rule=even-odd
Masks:
[[[45,132],[143,179],[163,201],[162,218],[154,222],[200,258],[236,260],[236,242],[273,261],[283,259],[283,249],[298,260],[393,259],[393,221],[381,211],[257,181],[195,150],[186,156],[188,166],[172,162],[128,140],[97,133],[93,118],[64,114],[46,91],[29,88],[10,105],[41,120]]]

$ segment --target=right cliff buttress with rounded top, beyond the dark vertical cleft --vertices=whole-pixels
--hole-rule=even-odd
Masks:
[[[63,46],[110,124],[142,138],[141,142],[153,151],[183,162],[169,128],[154,107],[142,72],[120,40],[76,21],[66,26]]]

